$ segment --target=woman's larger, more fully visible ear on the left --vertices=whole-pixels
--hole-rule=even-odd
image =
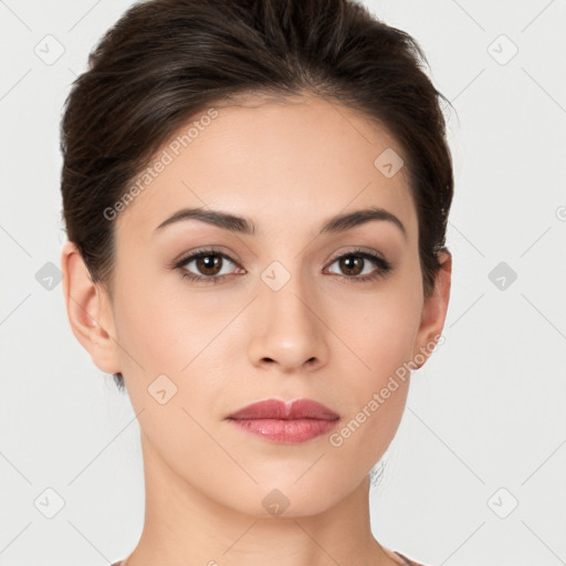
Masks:
[[[76,339],[105,374],[120,371],[112,304],[105,289],[93,283],[76,245],[67,241],[61,253],[63,293],[69,323]]]

